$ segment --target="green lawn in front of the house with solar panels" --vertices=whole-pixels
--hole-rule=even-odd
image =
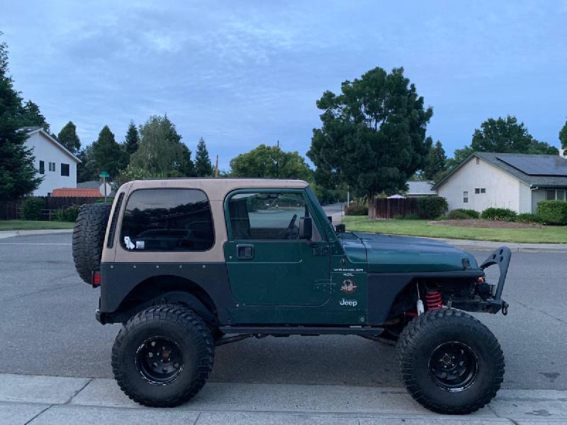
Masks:
[[[368,220],[367,217],[343,217],[349,230],[359,232],[408,234],[411,236],[446,237],[497,242],[527,242],[534,244],[567,244],[567,226],[535,229],[479,229],[432,225],[430,220]]]

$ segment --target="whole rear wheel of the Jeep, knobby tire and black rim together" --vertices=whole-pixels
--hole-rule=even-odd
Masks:
[[[213,368],[215,343],[201,317],[179,305],[136,314],[116,336],[114,377],[130,399],[174,407],[195,396]]]

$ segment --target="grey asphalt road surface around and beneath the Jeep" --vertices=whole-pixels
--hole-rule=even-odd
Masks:
[[[70,242],[71,234],[0,239],[0,373],[111,377],[119,325],[95,321],[99,290],[79,280]],[[503,346],[504,387],[567,390],[566,272],[565,254],[515,253],[504,290],[510,313],[478,314]],[[212,380],[400,385],[394,348],[357,336],[220,346]]]

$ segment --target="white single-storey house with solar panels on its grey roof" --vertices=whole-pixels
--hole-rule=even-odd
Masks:
[[[566,200],[567,158],[474,152],[433,189],[447,199],[449,210],[497,207],[536,213],[540,200]]]

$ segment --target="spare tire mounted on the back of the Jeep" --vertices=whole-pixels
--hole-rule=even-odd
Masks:
[[[91,284],[93,270],[100,266],[104,234],[112,205],[94,203],[82,205],[73,229],[73,260],[77,273]]]

